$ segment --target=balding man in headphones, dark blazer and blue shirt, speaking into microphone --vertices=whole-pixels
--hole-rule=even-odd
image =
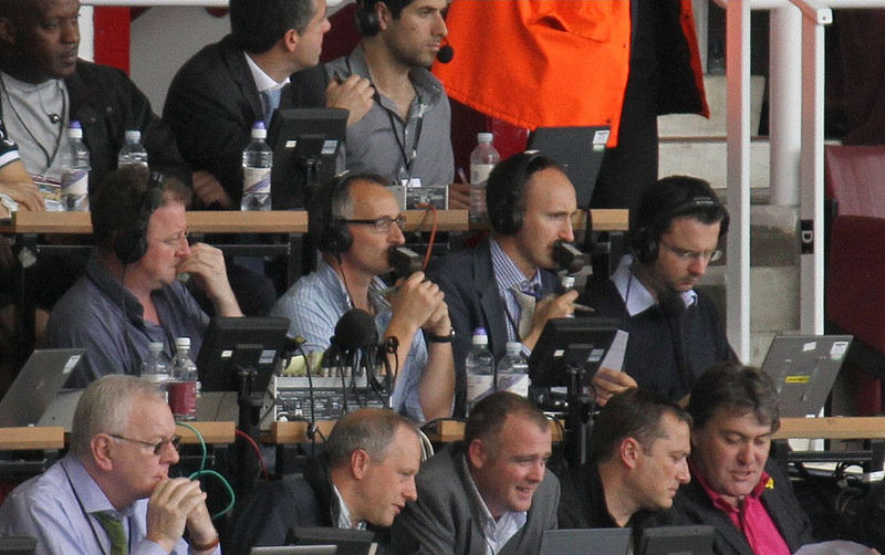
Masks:
[[[455,327],[456,415],[466,408],[465,359],[475,328],[485,327],[496,359],[507,342],[530,353],[550,318],[574,310],[577,292],[560,289],[553,244],[574,241],[577,212],[574,186],[559,164],[527,151],[499,163],[486,189],[491,237],[478,247],[452,253],[435,281],[446,293]]]

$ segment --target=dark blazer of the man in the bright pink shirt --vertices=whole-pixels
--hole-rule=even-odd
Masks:
[[[774,484],[772,489],[762,491],[762,504],[768,509],[790,551],[795,552],[802,545],[813,543],[811,521],[799,504],[787,472],[773,460],[766,464],[766,472],[774,480]],[[674,499],[674,509],[681,523],[709,524],[716,528],[714,554],[753,555],[743,533],[725,512],[714,506],[697,480],[679,488],[679,493]]]

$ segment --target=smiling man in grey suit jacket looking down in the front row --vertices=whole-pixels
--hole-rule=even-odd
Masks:
[[[421,465],[418,500],[391,530],[392,552],[537,554],[543,531],[556,527],[551,438],[546,417],[527,399],[498,391],[479,401],[464,441]]]

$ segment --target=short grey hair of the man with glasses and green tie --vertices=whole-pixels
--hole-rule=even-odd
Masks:
[[[80,460],[87,459],[92,438],[97,433],[124,433],[134,401],[152,398],[164,400],[155,384],[135,376],[113,374],[90,384],[74,410],[71,452]]]

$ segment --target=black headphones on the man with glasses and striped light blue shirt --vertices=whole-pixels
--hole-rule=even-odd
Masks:
[[[333,207],[344,195],[350,195],[351,184],[360,174],[342,171],[323,184],[311,199],[308,210],[308,233],[315,238],[320,252],[339,256],[353,245],[353,235],[341,214],[333,213]]]

